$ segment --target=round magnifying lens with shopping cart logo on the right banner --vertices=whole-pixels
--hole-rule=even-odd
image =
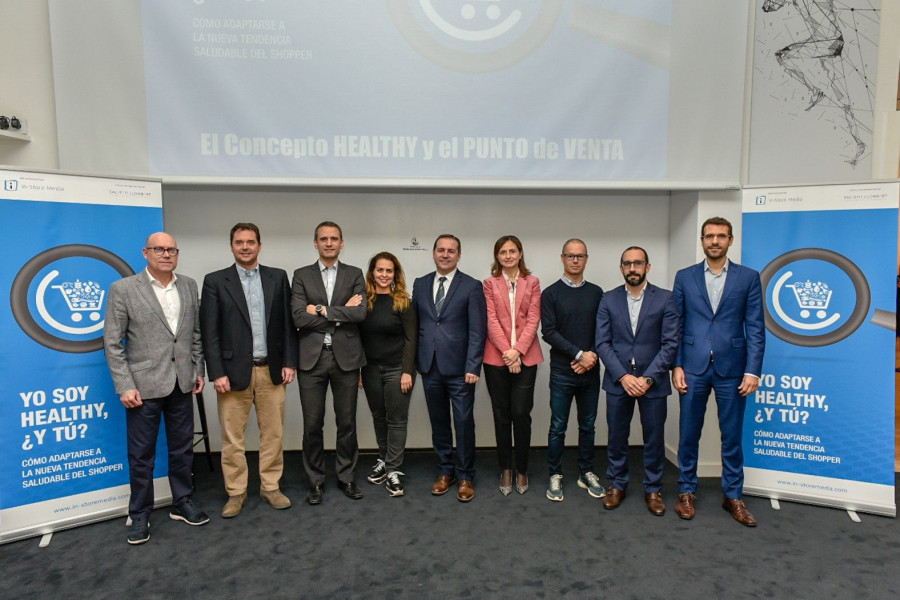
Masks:
[[[801,248],[776,257],[760,272],[766,329],[797,346],[827,346],[856,331],[871,305],[862,270],[842,254]]]

